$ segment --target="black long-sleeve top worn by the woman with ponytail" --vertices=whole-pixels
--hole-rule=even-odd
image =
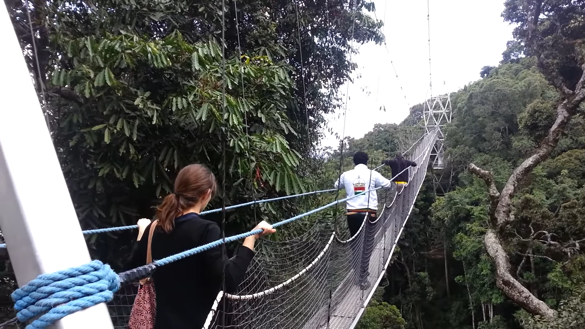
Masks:
[[[146,263],[150,225],[132,256],[132,266]],[[198,214],[184,214],[175,219],[173,231],[166,233],[159,225],[152,237],[152,259],[165,258],[188,249],[221,239],[221,229],[215,222]],[[217,246],[180,261],[161,266],[153,274],[156,291],[155,329],[201,329],[215,297],[222,287],[225,266],[226,292],[235,292],[242,283],[254,252],[240,247],[233,259]]]

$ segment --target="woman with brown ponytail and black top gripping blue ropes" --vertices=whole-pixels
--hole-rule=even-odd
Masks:
[[[215,176],[207,167],[195,164],[181,169],[174,193],[168,194],[157,208],[151,245],[153,260],[222,238],[218,224],[199,217],[216,190]],[[142,237],[149,237],[153,224],[144,228],[144,221],[142,225],[139,221],[134,267],[146,263],[148,239]],[[276,232],[265,221],[253,230],[256,229],[263,232],[247,237],[233,259],[228,258],[222,246],[217,246],[158,268],[152,276],[156,291],[154,328],[201,329],[222,289],[223,277],[226,292],[235,292],[254,257],[256,240]]]

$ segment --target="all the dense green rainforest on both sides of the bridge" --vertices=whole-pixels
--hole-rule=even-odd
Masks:
[[[216,173],[216,208],[331,186],[357,150],[375,167],[424,131],[419,104],[401,124],[316,152],[357,67],[350,54],[384,43],[374,2],[5,5],[84,229],[152,217],[188,163]],[[585,2],[507,0],[503,11],[514,40],[450,95],[448,166],[429,170],[360,329],[585,327]],[[230,212],[226,234],[327,200]],[[92,235],[88,247],[123,269],[134,234]],[[0,252],[6,318],[14,279]]]

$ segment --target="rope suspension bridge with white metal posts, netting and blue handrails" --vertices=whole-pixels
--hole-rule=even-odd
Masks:
[[[9,29],[8,12],[2,9],[0,30]],[[2,68],[3,75],[13,77],[1,82],[2,99],[6,108],[19,108],[6,111],[0,118],[0,227],[6,240],[0,248],[10,253],[20,286],[12,295],[18,314],[0,324],[0,329],[24,323],[29,323],[27,328],[51,324],[63,329],[128,328],[140,279],[160,266],[257,233],[227,237],[123,273],[91,261],[83,235],[136,229],[137,225],[81,231],[19,44],[12,33],[1,33],[0,42],[7,45],[8,50],[2,53],[5,62],[14,63]],[[404,152],[418,164],[405,169],[410,177],[408,186],[402,190],[373,190],[380,200],[377,219],[370,222],[364,218],[355,235],[349,234],[345,214],[332,220],[322,216],[322,211],[343,206],[355,196],[274,223],[274,227],[286,229],[290,222],[311,217],[312,226],[285,241],[262,239],[238,292],[218,293],[202,329],[354,328],[386,275],[427,168],[445,166],[442,128],[450,119],[449,94],[431,94],[425,102],[424,134]],[[13,123],[25,121],[27,138],[14,138],[22,132]],[[37,163],[43,164],[42,181],[30,174]],[[27,189],[30,186],[35,186],[34,193]],[[335,191],[339,190],[254,200],[226,210]],[[47,214],[47,210],[59,210],[59,214]],[[218,211],[222,209],[201,215]],[[369,285],[363,286],[358,284],[355,270],[361,255],[370,259]]]

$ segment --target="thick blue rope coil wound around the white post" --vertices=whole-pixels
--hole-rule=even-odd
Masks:
[[[92,261],[53,273],[44,273],[12,293],[20,322],[40,316],[26,329],[46,328],[61,318],[106,303],[120,289],[109,265]]]

